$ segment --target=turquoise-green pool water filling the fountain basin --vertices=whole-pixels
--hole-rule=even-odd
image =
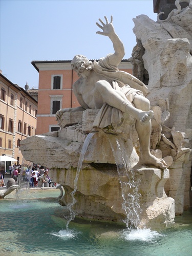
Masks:
[[[30,200],[16,201],[11,199],[13,194],[0,201],[1,256],[192,254],[189,211],[176,218],[175,227],[165,230],[130,232],[121,226],[79,220],[66,230],[61,218],[66,208],[58,204],[59,194],[58,189],[41,190],[30,193]]]

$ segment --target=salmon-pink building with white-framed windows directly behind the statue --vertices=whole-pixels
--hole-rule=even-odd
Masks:
[[[71,69],[71,60],[32,61],[32,65],[39,72],[37,134],[57,131],[57,110],[79,106],[72,91],[78,76]],[[132,74],[131,62],[122,60],[119,70]]]

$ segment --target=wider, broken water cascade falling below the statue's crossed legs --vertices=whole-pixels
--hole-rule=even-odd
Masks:
[[[123,220],[128,229],[138,228],[140,223],[141,207],[139,184],[140,180],[135,179],[135,174],[131,168],[130,156],[125,151],[123,144],[117,139],[117,136],[106,134],[110,141],[110,145],[115,157],[119,182],[121,185],[121,193],[123,198],[122,208],[126,214],[126,220]]]

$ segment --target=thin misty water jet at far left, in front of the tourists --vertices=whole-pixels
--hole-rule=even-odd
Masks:
[[[30,161],[26,161],[23,158],[22,168],[18,176],[18,188],[16,189],[16,200],[27,197],[32,167],[33,167],[33,163]]]

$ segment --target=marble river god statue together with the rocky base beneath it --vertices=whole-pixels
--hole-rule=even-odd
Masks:
[[[49,166],[51,179],[65,188],[60,204],[71,205],[75,216],[137,228],[172,225],[174,199],[164,191],[169,165],[150,152],[148,90],[118,70],[123,44],[112,17],[99,20],[97,33],[111,39],[115,52],[98,62],[74,57],[80,78],[73,91],[81,106],[59,110],[60,130],[29,137],[20,149],[25,159]]]

